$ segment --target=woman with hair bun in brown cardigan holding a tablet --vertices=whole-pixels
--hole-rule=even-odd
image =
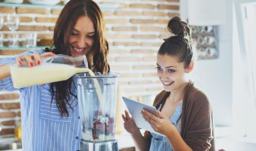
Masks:
[[[164,39],[157,53],[157,76],[164,90],[154,106],[158,116],[142,110],[143,118],[161,135],[141,135],[129,113],[122,114],[124,128],[139,150],[214,150],[212,107],[209,98],[188,79],[194,68],[191,32],[186,22],[172,18],[167,26],[173,36]]]

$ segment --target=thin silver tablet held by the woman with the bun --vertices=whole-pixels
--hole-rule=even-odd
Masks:
[[[144,109],[158,117],[155,106],[149,106],[125,97],[123,97],[123,100],[138,128],[145,129],[147,131],[154,132],[157,133],[158,135],[164,136],[161,133],[154,131],[151,125],[147,121],[145,121],[145,119],[142,118],[142,115],[140,114],[141,110]]]

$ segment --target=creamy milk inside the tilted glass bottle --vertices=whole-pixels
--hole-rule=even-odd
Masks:
[[[11,66],[11,76],[15,88],[23,88],[43,83],[52,83],[67,80],[76,73],[94,73],[87,68],[76,68],[71,65],[58,63],[43,63],[42,65],[30,67]]]

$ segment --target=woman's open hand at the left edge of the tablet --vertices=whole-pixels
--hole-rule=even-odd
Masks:
[[[124,113],[125,115],[122,114],[122,118],[124,120],[124,129],[132,135],[137,134],[140,129],[137,127],[132,117],[129,116],[128,111],[125,110]]]

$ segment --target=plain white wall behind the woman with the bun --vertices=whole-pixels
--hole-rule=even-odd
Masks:
[[[187,1],[180,1],[180,15],[183,20],[187,20],[188,16]],[[231,125],[233,35],[231,4],[231,0],[226,1],[226,23],[218,26],[219,57],[213,60],[197,61],[195,70],[191,74],[196,85],[210,97],[215,125]]]

